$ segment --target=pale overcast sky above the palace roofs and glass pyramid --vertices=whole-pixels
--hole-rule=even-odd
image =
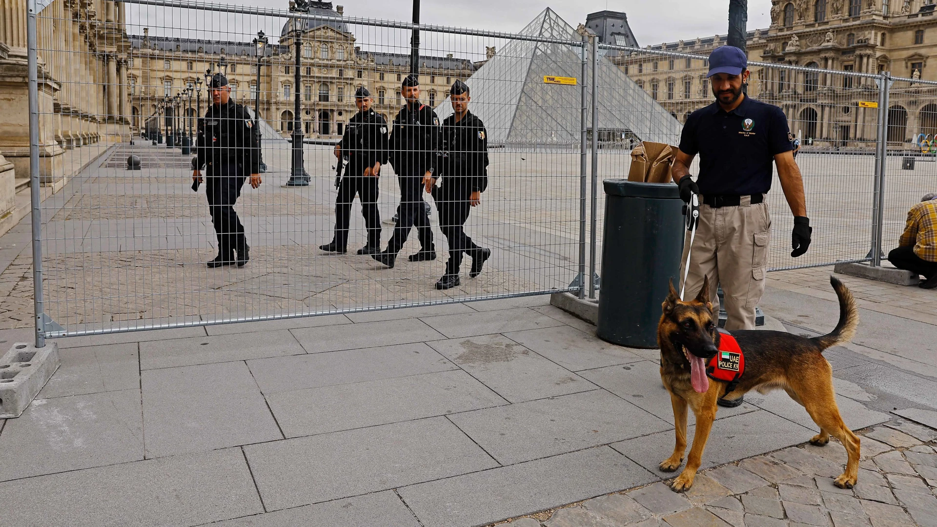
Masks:
[[[286,9],[289,0],[231,0],[229,3]],[[333,4],[344,6],[347,17],[409,21],[412,13],[409,0],[337,0]],[[513,33],[527,25],[543,8],[553,8],[573,27],[584,23],[588,13],[609,9],[628,14],[634,36],[644,47],[680,38],[724,34],[728,5],[728,0],[422,0],[421,22]],[[134,8],[142,7],[131,8],[128,20],[131,24],[140,20],[134,16]],[[749,29],[767,27],[770,8],[770,0],[749,0]],[[150,16],[142,17],[149,19],[143,23],[163,25],[155,23],[155,13],[150,12]],[[175,23],[168,25],[178,27]],[[130,31],[136,32],[135,29],[131,27]],[[359,38],[367,39],[364,35]]]

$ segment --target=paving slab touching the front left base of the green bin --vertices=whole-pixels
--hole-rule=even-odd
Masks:
[[[505,336],[573,371],[642,360],[640,355],[632,353],[629,348],[599,339],[594,334],[595,326],[592,327],[592,334],[568,325],[558,325],[507,333]]]

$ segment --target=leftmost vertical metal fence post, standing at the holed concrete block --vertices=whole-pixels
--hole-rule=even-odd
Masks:
[[[26,64],[29,69],[29,194],[33,207],[33,308],[36,347],[46,345],[42,305],[42,210],[39,208],[39,87],[37,64],[37,2],[28,0],[26,13]]]

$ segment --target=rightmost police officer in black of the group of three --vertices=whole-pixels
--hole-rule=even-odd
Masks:
[[[459,285],[459,264],[462,253],[472,257],[468,276],[477,277],[491,249],[481,248],[469,238],[463,224],[471,207],[482,203],[482,192],[488,187],[488,138],[482,119],[468,112],[468,85],[455,81],[449,89],[453,114],[442,121],[442,151],[439,174],[424,178],[426,191],[433,195],[439,209],[439,229],[449,242],[446,272],[436,282],[436,289]],[[442,178],[440,188],[436,180]]]

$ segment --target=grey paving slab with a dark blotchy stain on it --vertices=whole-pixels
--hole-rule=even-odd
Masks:
[[[429,345],[511,402],[595,388],[572,371],[501,335],[437,340]]]

